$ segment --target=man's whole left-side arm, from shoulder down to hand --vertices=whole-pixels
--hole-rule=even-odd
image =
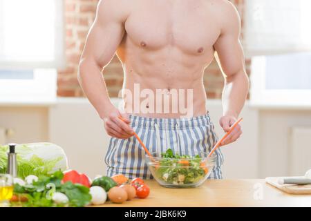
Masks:
[[[122,0],[104,0],[98,4],[95,21],[79,63],[78,79],[86,97],[104,119],[107,133],[113,137],[128,138],[133,131],[118,116],[128,117],[111,104],[102,77],[102,68],[109,64],[124,36],[127,11],[122,4]]]

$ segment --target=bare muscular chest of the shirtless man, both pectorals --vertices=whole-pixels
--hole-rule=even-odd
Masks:
[[[214,46],[220,28],[213,13],[202,7],[142,4],[126,20],[127,37],[149,50],[174,46],[189,54],[204,53]]]

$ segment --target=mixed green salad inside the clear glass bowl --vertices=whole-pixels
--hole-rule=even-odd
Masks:
[[[169,148],[161,156],[156,175],[168,184],[194,184],[202,180],[208,172],[207,166],[201,163],[202,158],[199,155],[191,157],[173,154]]]

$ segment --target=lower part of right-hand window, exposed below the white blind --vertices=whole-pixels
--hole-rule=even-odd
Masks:
[[[311,53],[254,57],[250,100],[254,106],[311,107]]]

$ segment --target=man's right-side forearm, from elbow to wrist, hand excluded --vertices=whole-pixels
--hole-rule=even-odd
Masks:
[[[244,70],[225,79],[223,89],[223,115],[237,118],[247,99],[249,79]]]

